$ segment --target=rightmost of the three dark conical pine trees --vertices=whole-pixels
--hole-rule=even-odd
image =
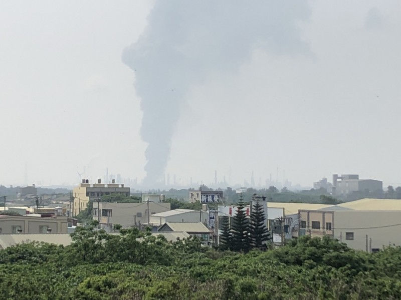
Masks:
[[[259,201],[254,202],[250,223],[250,243],[252,248],[262,249],[266,247],[265,242],[271,239],[265,220],[262,204]]]

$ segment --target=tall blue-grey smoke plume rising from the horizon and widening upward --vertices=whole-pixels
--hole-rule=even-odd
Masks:
[[[188,89],[211,71],[235,72],[254,49],[307,54],[297,23],[309,14],[306,0],[155,2],[143,34],[122,56],[135,72],[141,98],[141,136],[148,143],[145,184],[164,176]]]

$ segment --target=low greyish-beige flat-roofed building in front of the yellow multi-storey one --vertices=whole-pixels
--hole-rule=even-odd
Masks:
[[[93,220],[98,220],[100,226],[110,232],[115,224],[123,227],[141,226],[141,224],[148,223],[148,217],[150,219],[151,215],[168,210],[170,210],[170,203],[95,202],[93,204]]]

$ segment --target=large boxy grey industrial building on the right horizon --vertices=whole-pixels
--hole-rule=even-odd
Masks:
[[[338,181],[341,179],[340,181]],[[375,192],[383,190],[383,182],[374,179],[359,179],[357,174],[333,174],[333,195],[346,195],[352,192]]]

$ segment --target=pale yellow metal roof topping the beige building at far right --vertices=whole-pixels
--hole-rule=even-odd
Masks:
[[[337,204],[337,206],[354,210],[401,210],[401,200],[364,198]]]

